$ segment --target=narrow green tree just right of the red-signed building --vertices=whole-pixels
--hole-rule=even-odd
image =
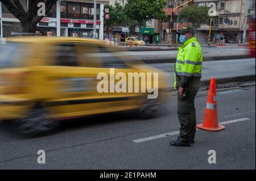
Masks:
[[[106,28],[107,35],[109,37],[109,31],[114,30],[118,26],[122,26],[127,22],[127,16],[123,7],[115,1],[115,7],[112,5],[105,6],[105,9],[109,9],[109,19],[105,19],[104,27]]]

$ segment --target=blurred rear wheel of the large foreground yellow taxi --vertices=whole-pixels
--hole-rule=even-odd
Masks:
[[[48,133],[59,125],[59,121],[53,121],[49,118],[49,112],[45,108],[34,108],[17,122],[18,132],[25,136]]]

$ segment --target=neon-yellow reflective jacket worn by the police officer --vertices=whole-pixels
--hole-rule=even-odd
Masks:
[[[179,48],[175,63],[174,89],[188,86],[193,77],[201,78],[203,55],[196,37],[191,37]]]

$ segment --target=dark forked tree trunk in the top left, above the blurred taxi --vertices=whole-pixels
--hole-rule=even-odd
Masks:
[[[23,32],[36,31],[36,24],[43,19],[44,16],[38,15],[38,3],[43,2],[46,5],[46,14],[57,0],[30,0],[28,1],[28,9],[25,11],[19,0],[0,0],[6,8],[13,14],[22,24]]]

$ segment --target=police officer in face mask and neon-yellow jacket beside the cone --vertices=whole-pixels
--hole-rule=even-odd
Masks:
[[[185,26],[178,31],[183,44],[177,53],[175,63],[174,89],[177,91],[177,115],[180,121],[180,135],[172,146],[191,146],[196,133],[195,97],[200,87],[202,73],[202,50],[196,40],[195,30]]]

